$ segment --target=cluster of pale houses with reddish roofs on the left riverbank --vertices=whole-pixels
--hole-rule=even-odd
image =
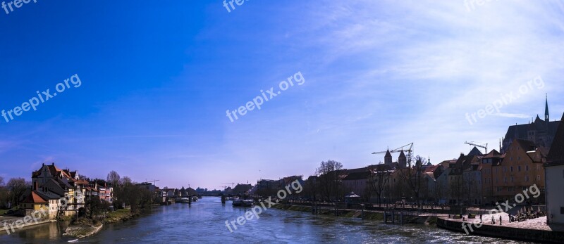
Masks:
[[[26,215],[44,210],[56,219],[75,214],[92,197],[114,202],[114,188],[105,181],[80,179],[77,171],[59,169],[54,163],[32,172],[31,183],[20,202]]]

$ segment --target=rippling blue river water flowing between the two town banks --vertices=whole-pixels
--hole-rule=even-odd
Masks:
[[[0,243],[516,243],[466,236],[433,226],[384,224],[346,217],[269,209],[233,233],[226,220],[249,209],[203,198],[191,206],[155,207],[149,214],[104,226],[82,240],[63,238],[64,224],[51,223],[0,236]],[[231,227],[233,229],[233,227]]]

